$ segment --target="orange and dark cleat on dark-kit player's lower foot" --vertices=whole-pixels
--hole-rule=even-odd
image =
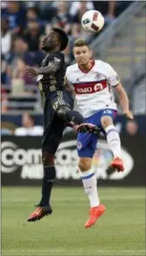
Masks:
[[[31,216],[28,217],[28,222],[35,222],[42,219],[44,216],[51,215],[52,208],[50,206],[41,207],[38,206],[34,212],[32,212]]]

